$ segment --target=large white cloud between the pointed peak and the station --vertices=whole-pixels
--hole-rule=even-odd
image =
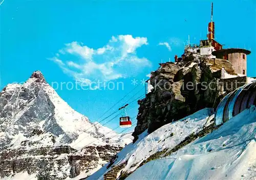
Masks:
[[[96,49],[74,41],[65,44],[50,60],[79,82],[110,81],[136,75],[151,66],[150,61],[136,54],[147,44],[147,38],[132,35],[112,36],[106,45]]]

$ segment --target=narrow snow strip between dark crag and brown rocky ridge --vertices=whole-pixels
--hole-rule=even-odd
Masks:
[[[186,137],[193,133],[197,133],[212,123],[211,109],[203,109],[193,115],[187,116],[179,121],[166,124],[151,134],[147,131],[139,135],[139,139],[134,144],[125,146],[118,154],[114,164],[107,168],[109,164],[103,166],[87,180],[103,179],[103,175],[125,163],[122,171],[130,173],[136,170],[139,165],[151,155],[166,148],[174,148]],[[141,178],[138,178],[141,179]]]

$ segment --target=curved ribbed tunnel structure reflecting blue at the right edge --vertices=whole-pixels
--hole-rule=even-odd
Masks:
[[[222,99],[215,113],[215,124],[228,121],[252,105],[256,106],[256,82],[246,84]]]

